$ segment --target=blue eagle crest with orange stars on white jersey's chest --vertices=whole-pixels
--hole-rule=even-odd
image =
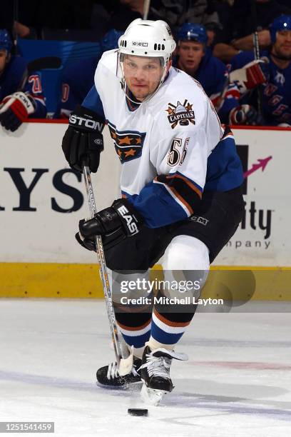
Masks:
[[[116,126],[109,121],[108,128],[121,164],[131,161],[131,159],[137,159],[141,156],[146,133],[136,131],[117,131]]]

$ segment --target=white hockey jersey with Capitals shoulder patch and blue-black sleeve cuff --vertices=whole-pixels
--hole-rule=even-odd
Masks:
[[[218,116],[200,84],[174,68],[158,91],[137,107],[126,98],[116,66],[117,52],[105,52],[96,69],[95,86],[122,164],[121,192],[147,226],[183,220],[198,207],[208,157],[223,137]],[[242,182],[238,161],[240,181],[233,181],[235,186]],[[220,162],[220,175],[217,168],[210,169],[213,178],[219,179],[231,163],[233,157]]]

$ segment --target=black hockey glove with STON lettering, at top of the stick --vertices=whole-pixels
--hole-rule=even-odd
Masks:
[[[103,151],[104,120],[91,109],[78,105],[68,124],[61,144],[68,164],[74,170],[83,171],[86,161],[90,171],[96,173]]]

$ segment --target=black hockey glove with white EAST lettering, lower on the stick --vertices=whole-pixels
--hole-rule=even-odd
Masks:
[[[94,218],[80,220],[76,240],[89,251],[96,251],[94,237],[101,235],[103,246],[108,249],[136,235],[142,225],[143,219],[133,206],[126,199],[118,199]]]

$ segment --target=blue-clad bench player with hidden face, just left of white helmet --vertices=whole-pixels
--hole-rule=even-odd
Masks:
[[[118,38],[123,32],[111,29],[101,39],[101,55],[104,51],[118,48]],[[94,84],[94,74],[100,56],[84,58],[64,69],[61,78],[61,101],[59,101],[54,119],[66,119],[76,105],[80,105]]]

